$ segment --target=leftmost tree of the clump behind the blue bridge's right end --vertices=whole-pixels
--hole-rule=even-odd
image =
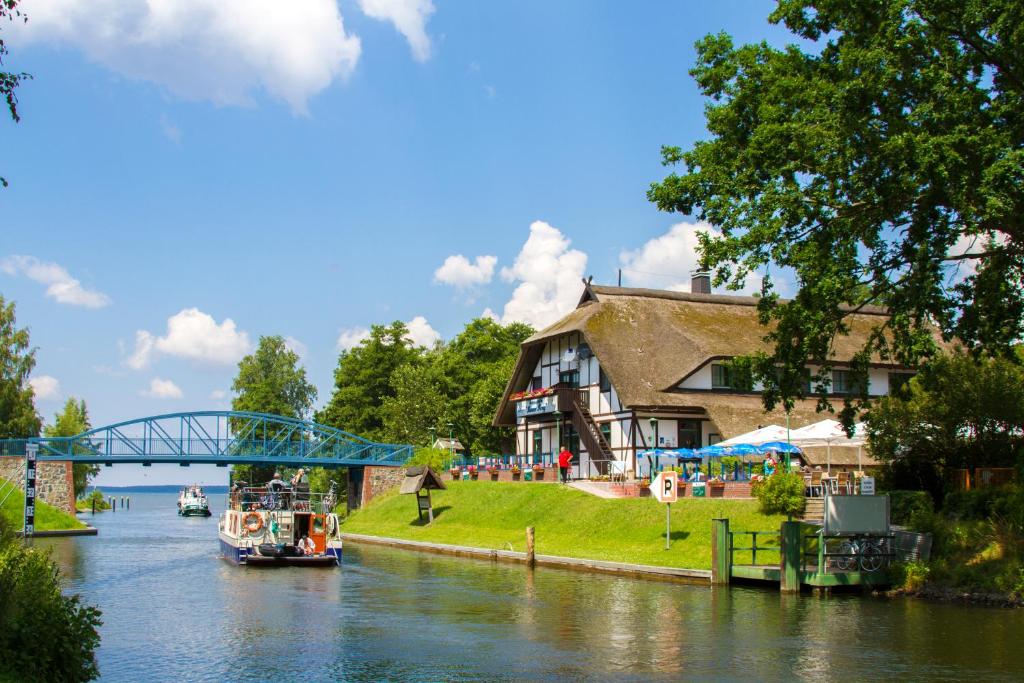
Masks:
[[[369,338],[338,356],[334,393],[316,414],[316,422],[365,438],[381,439],[382,405],[395,395],[391,377],[398,368],[419,361],[422,354],[423,349],[409,339],[404,323],[372,326]]]

